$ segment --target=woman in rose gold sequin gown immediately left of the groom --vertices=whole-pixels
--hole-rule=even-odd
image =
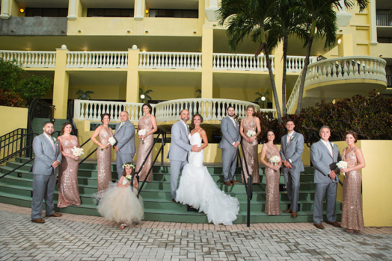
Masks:
[[[151,146],[154,143],[154,133],[157,131],[157,121],[153,115],[151,115],[151,106],[149,103],[144,103],[142,106],[144,116],[140,117],[137,131],[140,129],[145,129],[147,131],[146,135],[139,136],[139,148],[137,151],[137,162],[136,162],[136,171],[140,169],[141,164],[143,163],[147,153]],[[143,140],[142,140],[143,139]],[[149,171],[151,164],[153,162],[153,153],[151,152],[149,158],[144,163],[143,168],[139,172],[139,181],[142,182]],[[145,180],[147,182],[151,182],[153,178],[153,173],[150,171],[148,178]]]

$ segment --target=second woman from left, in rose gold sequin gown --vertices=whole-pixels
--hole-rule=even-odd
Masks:
[[[96,149],[96,167],[97,167],[97,191],[106,190],[112,182],[112,151],[111,145],[108,142],[110,137],[113,137],[112,129],[108,126],[110,121],[109,114],[102,115],[103,124],[96,127],[91,136],[91,140],[98,145]],[[96,137],[100,137],[100,142]]]

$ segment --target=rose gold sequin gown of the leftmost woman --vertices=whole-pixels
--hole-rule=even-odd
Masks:
[[[65,139],[63,136],[59,138],[61,140],[62,150],[67,154],[72,155],[71,149],[74,146],[80,146],[78,138],[74,135],[71,136],[71,141]],[[78,167],[79,161],[63,155],[59,166],[59,200],[57,201],[57,207],[80,205]]]

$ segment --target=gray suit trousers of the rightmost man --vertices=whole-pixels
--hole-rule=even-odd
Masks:
[[[335,204],[336,204],[336,187],[337,183],[315,183],[314,184],[314,206],[313,222],[315,224],[323,222],[323,199],[327,192],[327,221],[335,222]]]

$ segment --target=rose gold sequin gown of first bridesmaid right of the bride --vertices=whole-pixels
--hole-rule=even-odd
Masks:
[[[256,132],[256,117],[253,117],[249,123],[247,123],[247,118],[244,118],[242,121],[242,127],[243,127],[243,133],[247,135],[248,131],[254,131]],[[248,170],[250,175],[252,176],[252,182],[253,183],[258,183],[260,182],[260,176],[259,176],[259,159],[258,159],[258,153],[257,153],[257,139],[255,139],[252,143],[249,143],[245,139],[242,139],[241,144],[243,147],[243,152],[245,153],[244,156],[247,159],[247,164],[248,164]],[[242,168],[244,171],[244,175],[248,180],[248,173],[247,169],[245,168],[245,163],[242,160]],[[243,181],[243,176],[241,175],[241,180]]]

